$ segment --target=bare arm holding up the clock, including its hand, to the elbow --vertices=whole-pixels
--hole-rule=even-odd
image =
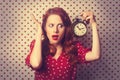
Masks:
[[[97,60],[100,57],[100,43],[97,32],[97,23],[95,21],[93,12],[87,11],[87,12],[83,12],[81,15],[83,19],[85,19],[86,21],[89,20],[89,23],[92,28],[92,50],[87,52],[85,59],[86,61]]]

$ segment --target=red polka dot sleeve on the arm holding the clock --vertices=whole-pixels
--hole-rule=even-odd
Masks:
[[[81,63],[86,62],[85,55],[91,49],[84,48],[79,42],[76,43],[77,52],[78,52],[78,61]]]

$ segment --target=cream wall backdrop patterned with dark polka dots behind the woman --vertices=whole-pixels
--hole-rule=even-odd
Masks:
[[[94,11],[98,23],[101,58],[78,65],[77,80],[120,80],[120,0],[0,0],[0,80],[33,80],[34,72],[25,65],[35,23],[51,7],[64,8],[73,20],[80,12]],[[75,38],[91,47],[91,28]]]

